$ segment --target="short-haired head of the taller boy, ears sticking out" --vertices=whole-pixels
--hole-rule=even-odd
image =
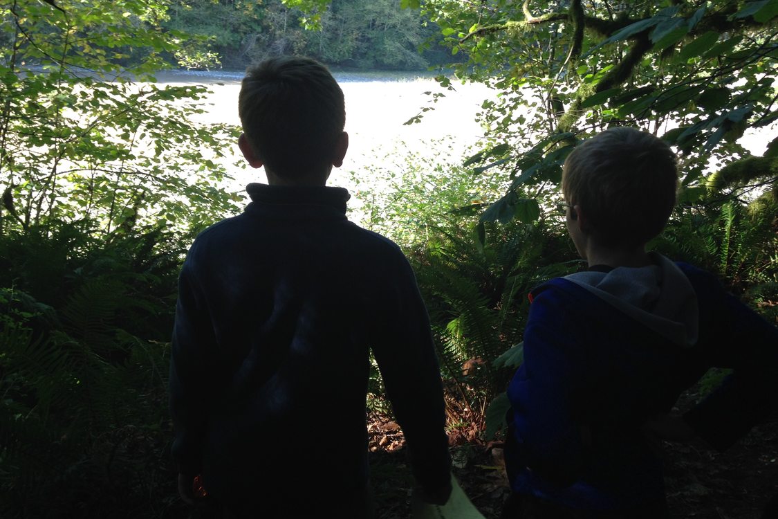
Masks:
[[[342,89],[310,58],[270,58],[249,67],[238,113],[258,159],[286,178],[331,167],[345,125]]]

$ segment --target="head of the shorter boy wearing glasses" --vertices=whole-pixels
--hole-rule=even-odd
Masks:
[[[675,153],[635,128],[610,128],[581,143],[565,161],[562,193],[608,247],[636,247],[656,237],[675,206]]]

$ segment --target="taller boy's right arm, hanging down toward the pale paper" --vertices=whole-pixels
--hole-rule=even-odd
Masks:
[[[451,491],[443,384],[426,307],[399,251],[381,285],[373,355],[405,435],[416,482],[430,501],[443,504]]]

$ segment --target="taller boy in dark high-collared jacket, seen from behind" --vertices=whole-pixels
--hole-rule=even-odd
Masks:
[[[180,493],[202,475],[225,517],[371,517],[373,350],[422,495],[450,493],[426,309],[397,245],[325,187],[349,144],[338,83],[306,58],[250,68],[239,145],[268,184],[201,233],[180,272],[170,409]]]

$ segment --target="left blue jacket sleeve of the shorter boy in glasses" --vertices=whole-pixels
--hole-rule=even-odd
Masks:
[[[585,359],[565,332],[576,329],[572,318],[554,289],[535,296],[524,330],[524,363],[508,387],[517,458],[557,486],[573,484],[587,458],[584,424],[576,420]]]

